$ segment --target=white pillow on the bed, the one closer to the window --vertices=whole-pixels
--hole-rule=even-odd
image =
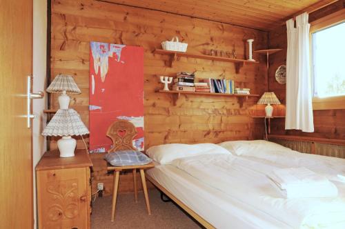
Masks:
[[[267,151],[290,151],[290,148],[286,148],[277,143],[264,140],[253,141],[224,141],[218,144],[221,147],[226,148],[229,152],[235,155],[255,156],[262,152]]]

